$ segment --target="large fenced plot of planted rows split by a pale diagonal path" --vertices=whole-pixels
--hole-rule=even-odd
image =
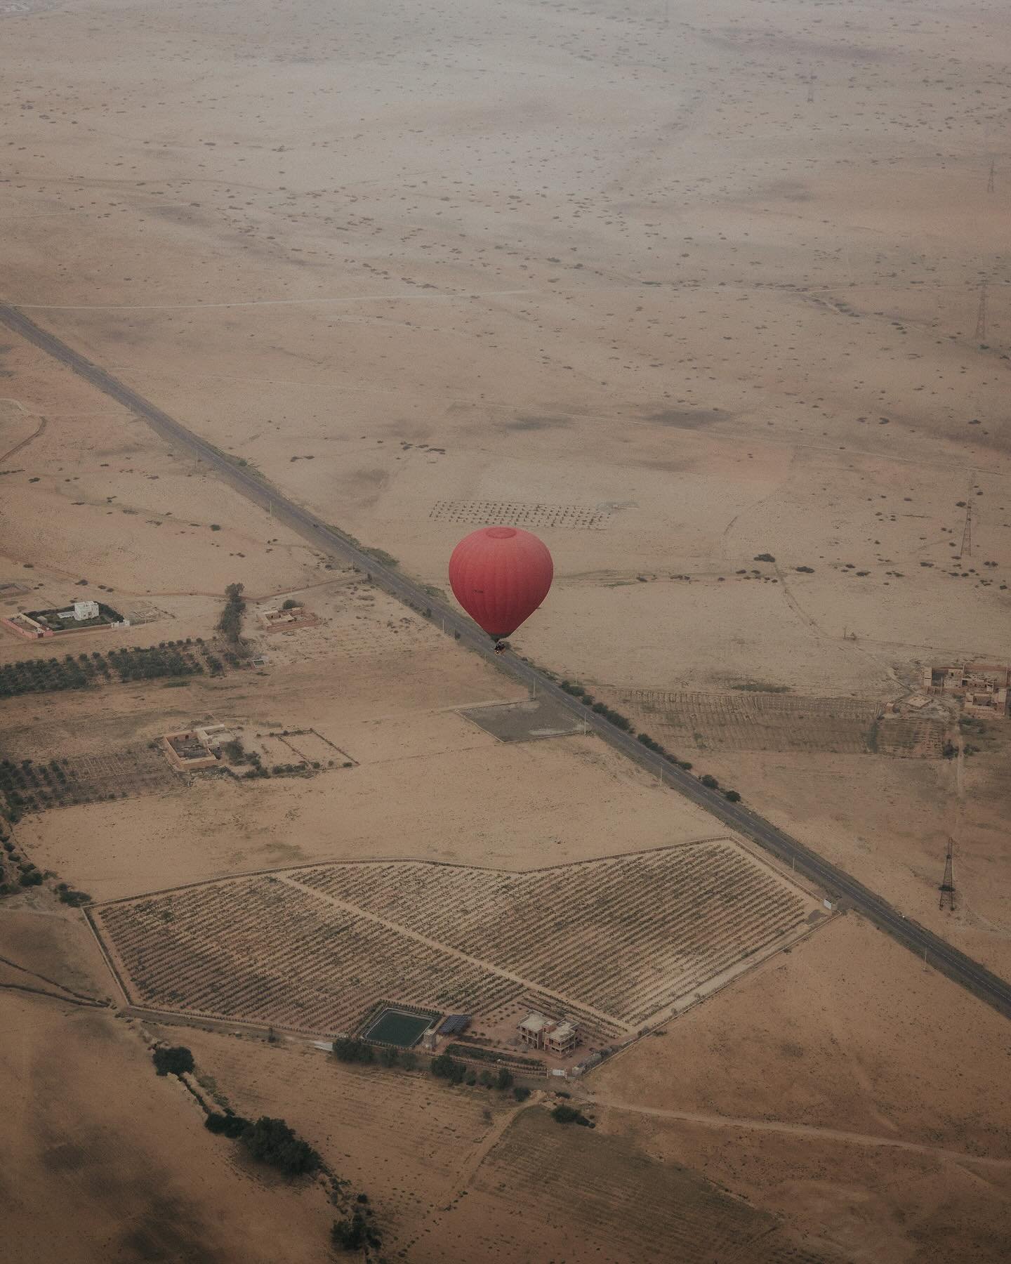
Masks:
[[[816,901],[728,839],[511,873],[332,863],[100,905],[138,1005],[350,1031],[378,1000],[636,1035],[804,933]]]

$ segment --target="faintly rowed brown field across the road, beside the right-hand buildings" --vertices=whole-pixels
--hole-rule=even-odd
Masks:
[[[881,707],[859,698],[796,698],[792,694],[666,693],[618,690],[618,710],[675,751],[824,751],[862,755],[873,750]]]

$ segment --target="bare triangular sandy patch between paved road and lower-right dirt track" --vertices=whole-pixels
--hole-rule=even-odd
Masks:
[[[1011,1158],[1011,1109],[993,1091],[1006,1059],[1000,1015],[848,915],[762,967],[747,990],[633,1045],[588,1088],[602,1101]],[[752,1068],[743,1079],[741,1066]]]

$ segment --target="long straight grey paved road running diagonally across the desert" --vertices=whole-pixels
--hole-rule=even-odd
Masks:
[[[842,899],[849,908],[863,914],[878,929],[892,935],[910,952],[916,953],[926,963],[960,983],[981,1000],[987,1001],[1006,1018],[1011,1018],[1011,983],[991,973],[931,930],[902,916],[897,909],[868,890],[862,882],[851,877],[845,870],[830,865],[816,852],[805,847],[796,838],[791,838],[790,834],[744,804],[729,803],[719,790],[708,789],[690,772],[672,766],[661,756],[648,751],[634,737],[623,733],[600,715],[588,710],[560,689],[550,676],[523,659],[512,653],[495,655],[488,638],[474,627],[470,619],[430,597],[421,584],[407,579],[396,569],[383,565],[358,541],[344,535],[336,527],[321,522],[316,514],[288,499],[265,479],[236,464],[234,458],[195,435],[150,401],[67,346],[61,339],[40,329],[16,307],[0,306],[0,325],[6,325],[20,334],[29,343],[52,355],[53,359],[73,369],[99,391],[121,403],[124,408],[143,417],[163,439],[173,445],[174,450],[185,450],[197,456],[243,495],[257,504],[269,507],[275,518],[287,522],[300,535],[317,545],[320,550],[344,557],[359,570],[366,571],[373,583],[412,609],[430,612],[433,622],[439,623],[447,635],[455,636],[461,645],[481,655],[523,685],[536,685],[542,695],[552,698],[580,720],[585,720],[588,727],[612,747],[662,777],[672,790],[711,813],[730,829],[758,843],[772,856],[787,862],[797,873],[814,882],[828,895]]]

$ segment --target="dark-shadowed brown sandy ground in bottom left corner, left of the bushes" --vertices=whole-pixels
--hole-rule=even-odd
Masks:
[[[155,1077],[136,1033],[48,999],[4,992],[0,1006],[11,1102],[0,1136],[18,1155],[3,1178],[11,1258],[327,1258],[321,1192],[236,1164],[178,1082]]]

